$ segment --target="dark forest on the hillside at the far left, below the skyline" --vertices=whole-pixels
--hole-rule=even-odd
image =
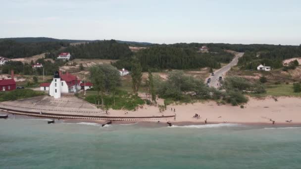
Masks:
[[[62,46],[67,46],[65,42],[15,42],[5,40],[0,42],[0,56],[7,58],[30,57],[33,55],[57,50]]]

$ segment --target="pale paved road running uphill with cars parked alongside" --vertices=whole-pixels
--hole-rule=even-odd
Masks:
[[[219,81],[218,81],[219,77],[221,76],[224,79],[225,74],[231,69],[231,67],[237,65],[238,58],[240,58],[244,55],[244,53],[241,53],[241,52],[235,52],[234,54],[235,54],[235,57],[228,65],[216,70],[214,72],[214,76],[210,75],[208,77],[208,78],[211,78],[211,82],[209,83],[210,87],[215,87],[215,88],[219,87]],[[206,78],[205,83],[207,83],[208,78]]]

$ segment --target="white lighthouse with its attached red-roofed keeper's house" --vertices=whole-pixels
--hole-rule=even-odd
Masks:
[[[56,71],[53,76],[52,82],[40,84],[41,90],[49,89],[49,95],[54,98],[60,98],[61,93],[75,93],[80,90],[81,80],[78,80],[76,76],[69,74],[62,74],[62,72]]]

